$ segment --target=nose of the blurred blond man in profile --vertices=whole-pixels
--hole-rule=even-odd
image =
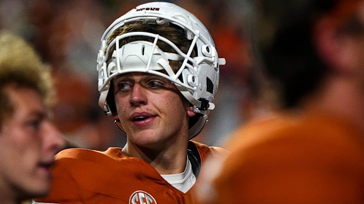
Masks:
[[[56,155],[65,146],[66,141],[61,132],[51,121],[46,122],[43,131],[43,151]]]

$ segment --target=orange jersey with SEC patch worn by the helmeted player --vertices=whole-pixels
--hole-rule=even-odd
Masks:
[[[194,143],[202,164],[209,155],[223,151]],[[56,155],[53,172],[51,193],[37,202],[129,203],[133,192],[140,190],[153,196],[158,204],[195,203],[194,187],[186,193],[177,190],[145,161],[124,156],[121,148],[109,148],[105,152],[66,149]],[[142,200],[136,203],[155,202]]]

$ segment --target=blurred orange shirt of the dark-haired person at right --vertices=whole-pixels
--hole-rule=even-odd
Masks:
[[[238,129],[225,149],[199,203],[364,203],[364,135],[342,118],[272,117]]]

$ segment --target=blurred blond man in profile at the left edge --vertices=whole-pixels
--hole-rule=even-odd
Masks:
[[[21,37],[0,32],[0,202],[21,203],[51,187],[64,146],[50,120],[50,69]]]

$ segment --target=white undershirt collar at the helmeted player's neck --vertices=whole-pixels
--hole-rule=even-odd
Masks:
[[[178,190],[186,193],[196,182],[196,176],[192,171],[192,165],[187,159],[186,169],[183,173],[161,175],[168,183]]]

